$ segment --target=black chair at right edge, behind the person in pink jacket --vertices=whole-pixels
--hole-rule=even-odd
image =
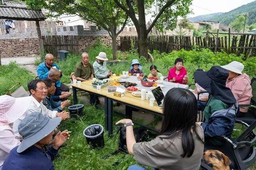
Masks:
[[[247,113],[239,114],[236,120],[241,120],[247,124],[252,124],[256,120],[256,77],[251,80],[252,98],[249,104],[238,105],[239,107],[249,107]]]

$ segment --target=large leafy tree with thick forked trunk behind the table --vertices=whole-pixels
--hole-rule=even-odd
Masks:
[[[138,34],[139,55],[148,58],[148,33],[156,26],[159,31],[174,29],[178,16],[190,13],[192,0],[115,0],[116,4],[128,14]],[[151,7],[155,4],[159,12]],[[145,15],[151,13],[155,19],[147,28]]]

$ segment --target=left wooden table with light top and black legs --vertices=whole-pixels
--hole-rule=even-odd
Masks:
[[[105,100],[105,105],[104,105],[104,110],[105,110],[105,128],[106,130],[108,130],[108,89],[107,88],[101,88],[101,91],[98,91],[96,88],[92,87],[92,82],[93,80],[88,80],[85,82],[81,82],[81,85],[77,85],[77,84],[71,84],[72,89],[73,89],[73,98],[74,98],[74,104],[77,104],[77,90],[81,90],[81,91],[85,91],[85,92],[89,92],[92,94],[95,94],[97,96],[101,96],[104,97]]]

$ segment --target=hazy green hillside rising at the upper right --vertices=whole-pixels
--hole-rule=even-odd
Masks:
[[[249,22],[248,24],[251,25],[256,23],[256,1],[253,1],[249,4],[240,6],[228,13],[212,13],[207,15],[200,15],[194,18],[190,18],[190,21],[199,21],[199,20],[209,20],[209,21],[220,21],[226,25],[229,25],[237,15],[241,13],[249,13]],[[211,16],[212,15],[212,16]]]

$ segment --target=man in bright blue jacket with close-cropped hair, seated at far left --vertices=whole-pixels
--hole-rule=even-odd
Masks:
[[[49,71],[52,68],[60,70],[59,66],[54,63],[54,56],[52,54],[47,54],[45,56],[45,62],[40,63],[36,69],[39,79],[47,79]],[[60,88],[63,92],[69,92],[69,88],[65,84],[63,84],[60,79],[56,82],[56,88]]]

